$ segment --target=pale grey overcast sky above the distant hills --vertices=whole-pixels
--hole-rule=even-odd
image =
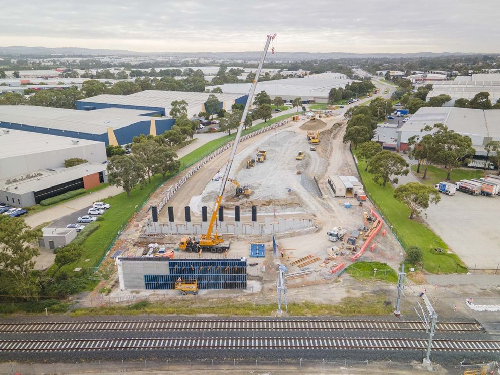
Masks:
[[[140,52],[500,52],[499,0],[2,1],[0,46]]]

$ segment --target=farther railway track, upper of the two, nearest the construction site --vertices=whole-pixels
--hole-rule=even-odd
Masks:
[[[1,323],[1,333],[95,331],[425,331],[420,321],[376,320],[130,320]],[[441,332],[483,332],[479,323],[440,322]]]

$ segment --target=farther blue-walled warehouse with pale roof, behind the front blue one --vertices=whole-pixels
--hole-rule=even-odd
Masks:
[[[150,115],[158,114],[169,116],[172,102],[184,100],[188,103],[188,114],[196,116],[199,112],[206,112],[205,103],[210,93],[185,91],[146,90],[130,95],[97,95],[77,100],[77,109],[94,110],[101,108],[126,108],[149,111]],[[214,94],[220,100],[220,108],[230,110],[233,104],[246,102],[247,95]]]

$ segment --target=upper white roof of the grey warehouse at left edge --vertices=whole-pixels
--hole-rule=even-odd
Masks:
[[[0,159],[102,143],[86,139],[75,141],[76,143],[71,138],[51,134],[0,129]]]

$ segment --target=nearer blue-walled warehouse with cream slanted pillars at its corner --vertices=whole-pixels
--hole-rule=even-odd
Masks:
[[[0,106],[0,128],[17,129],[76,139],[126,145],[141,134],[169,130],[173,119],[151,117],[151,111],[105,108],[95,111],[38,107]]]

